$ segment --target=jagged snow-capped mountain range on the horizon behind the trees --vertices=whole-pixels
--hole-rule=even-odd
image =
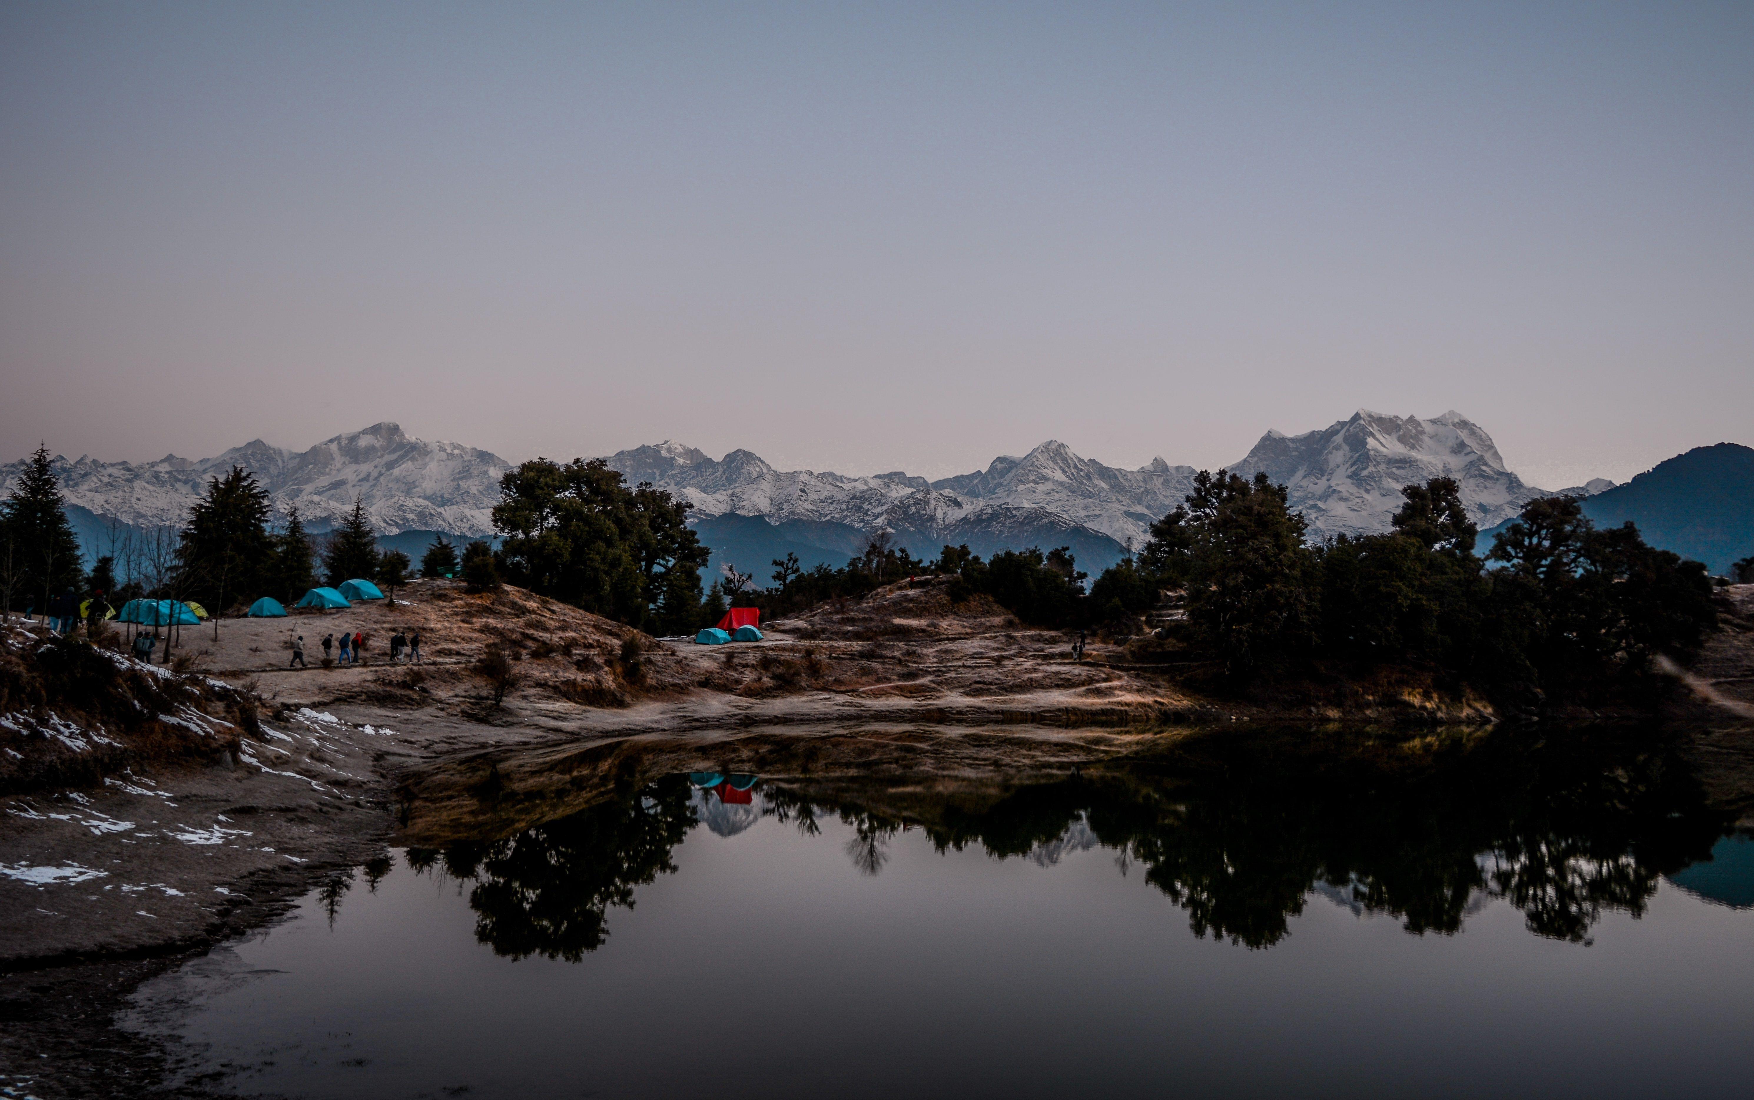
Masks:
[[[58,458],[56,474],[72,505],[153,528],[181,525],[207,481],[233,465],[253,470],[281,512],[298,505],[312,530],[337,523],[358,495],[382,533],[488,535],[500,477],[512,463],[461,444],[412,439],[398,425],[381,423],[309,451],[254,440],[209,460]],[[1182,502],[1194,477],[1193,467],[1163,458],[1137,470],[1107,467],[1058,440],[1021,458],[995,458],[986,470],[930,482],[903,472],[847,477],[775,470],[751,451],[712,460],[674,442],[621,451],[609,456],[609,465],[630,482],[670,489],[700,518],[756,516],[793,530],[889,530],[916,553],[944,542],[988,547],[984,553],[1072,542],[1110,560],[1144,544],[1151,523]],[[0,467],[0,488],[11,489],[21,467]],[[1319,432],[1268,432],[1230,468],[1265,470],[1284,482],[1316,539],[1386,530],[1400,507],[1400,488],[1428,477],[1461,482],[1463,500],[1482,528],[1540,495],[1507,470],[1493,439],[1458,412],[1417,419],[1359,411]]]

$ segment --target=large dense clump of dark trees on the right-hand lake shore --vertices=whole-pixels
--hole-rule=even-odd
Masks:
[[[1091,604],[1138,614],[1186,589],[1184,640],[1233,681],[1414,665],[1498,698],[1587,695],[1715,630],[1705,567],[1631,523],[1598,530],[1573,498],[1535,500],[1482,558],[1452,479],[1403,495],[1391,532],[1308,546],[1284,486],[1201,472]]]

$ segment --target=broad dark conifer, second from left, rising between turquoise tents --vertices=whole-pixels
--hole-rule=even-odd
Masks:
[[[244,467],[209,479],[207,493],[189,507],[189,525],[177,544],[188,593],[217,616],[226,598],[254,595],[274,565],[268,535],[268,491]]]

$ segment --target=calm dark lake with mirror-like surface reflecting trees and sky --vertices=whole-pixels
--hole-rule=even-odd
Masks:
[[[1747,1096],[1749,905],[1622,746],[668,775],[339,877],[139,1026],[246,1095]]]

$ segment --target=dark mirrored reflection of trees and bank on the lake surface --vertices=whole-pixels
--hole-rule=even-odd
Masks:
[[[1175,767],[949,786],[758,786],[754,775],[695,772],[505,840],[410,849],[409,860],[472,881],[477,937],[512,958],[577,961],[596,949],[607,909],[631,907],[635,886],[675,870],[670,853],[695,825],[731,837],[772,818],[814,835],[824,816],[852,828],[845,853],[865,875],[881,874],[889,839],[912,828],[938,851],[979,847],[1044,867],[1110,847],[1121,874],[1142,868],[1186,911],[1194,935],[1247,947],[1284,939],[1312,893],[1444,935],[1501,898],[1531,933],[1587,944],[1605,912],[1642,914],[1661,875],[1686,884],[1682,868],[1707,860],[1726,825],[1651,749],[1503,735],[1437,758],[1384,753],[1317,758],[1237,740]]]

